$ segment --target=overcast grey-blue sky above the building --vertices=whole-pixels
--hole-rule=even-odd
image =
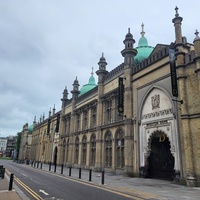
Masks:
[[[54,104],[59,111],[65,86],[71,98],[76,76],[80,88],[88,83],[102,52],[108,71],[121,64],[129,27],[135,47],[142,22],[150,46],[170,44],[175,6],[192,43],[197,0],[0,0],[0,136],[46,118]]]

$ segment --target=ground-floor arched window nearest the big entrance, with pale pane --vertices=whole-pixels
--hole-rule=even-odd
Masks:
[[[124,133],[119,130],[116,135],[116,166],[124,167]]]

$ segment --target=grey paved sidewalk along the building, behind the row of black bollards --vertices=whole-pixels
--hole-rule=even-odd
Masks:
[[[48,164],[36,164],[35,166],[29,165],[29,167],[35,168],[35,170],[48,171],[50,173],[60,174],[67,178],[78,179],[79,181],[87,182],[92,185],[100,186],[104,189],[110,189],[116,192],[121,192],[135,197],[135,199],[161,199],[161,200],[199,200],[200,188],[186,187],[175,184],[166,180],[159,179],[147,179],[147,178],[130,178],[123,177],[122,175],[114,175],[111,173],[104,173],[104,184],[102,184],[102,173],[93,172],[91,181],[89,181],[89,170],[77,168],[63,167],[63,173],[61,166]],[[50,169],[50,170],[49,170]],[[56,172],[55,172],[56,171]]]

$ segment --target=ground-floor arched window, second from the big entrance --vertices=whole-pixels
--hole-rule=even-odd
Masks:
[[[112,135],[110,132],[105,136],[105,166],[112,166]]]

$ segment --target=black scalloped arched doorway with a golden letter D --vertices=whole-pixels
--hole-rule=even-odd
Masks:
[[[149,139],[150,154],[147,157],[147,177],[172,180],[174,178],[174,156],[169,138],[156,131]]]

